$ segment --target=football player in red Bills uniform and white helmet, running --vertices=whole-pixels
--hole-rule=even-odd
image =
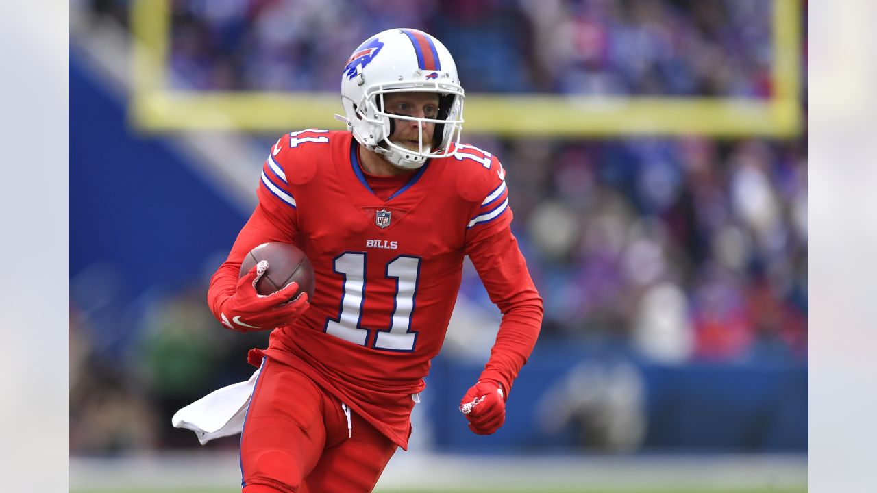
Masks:
[[[464,92],[438,39],[392,29],[354,50],[341,75],[346,132],[304,130],[270,150],[259,204],[210,282],[217,319],[274,329],[250,352],[260,374],[240,444],[243,491],[370,491],[439,354],[469,256],[502,323],[481,377],[460,402],[469,428],[503,425],[531,354],[542,300],[517,240],[505,171],[460,144]],[[294,243],[316,273],[267,297],[239,279],[267,241]]]

